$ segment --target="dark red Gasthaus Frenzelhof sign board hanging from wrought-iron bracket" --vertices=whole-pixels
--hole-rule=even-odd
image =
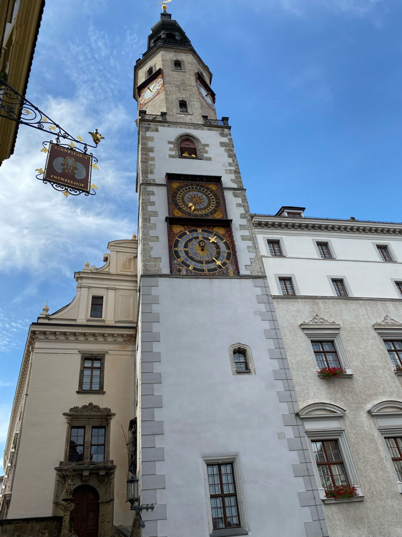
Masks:
[[[43,180],[90,192],[91,166],[91,155],[50,143]]]

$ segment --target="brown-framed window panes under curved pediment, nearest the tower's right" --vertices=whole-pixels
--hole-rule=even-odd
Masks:
[[[311,441],[315,462],[321,486],[324,489],[332,489],[341,485],[348,485],[344,462],[339,450],[337,440]]]

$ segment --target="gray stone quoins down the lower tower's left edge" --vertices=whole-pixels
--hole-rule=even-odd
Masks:
[[[141,380],[141,501],[153,503],[153,511],[143,511],[146,521],[143,537],[158,537],[158,520],[166,519],[166,504],[157,503],[158,489],[166,488],[165,474],[157,474],[157,461],[165,460],[165,448],[157,446],[156,436],[163,435],[163,421],[155,420],[155,408],[163,405],[163,396],[154,395],[155,384],[162,383],[162,374],[154,372],[153,365],[161,361],[161,353],[153,350],[160,340],[159,313],[152,310],[159,303],[158,278],[142,277],[140,280],[140,380]],[[160,444],[160,442],[158,442]]]

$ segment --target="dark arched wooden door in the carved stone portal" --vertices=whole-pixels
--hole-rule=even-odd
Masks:
[[[71,511],[72,528],[78,537],[98,537],[99,494],[93,487],[81,485],[73,491],[75,507]]]

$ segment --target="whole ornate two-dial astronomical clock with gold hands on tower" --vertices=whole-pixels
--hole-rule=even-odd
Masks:
[[[168,197],[172,274],[239,274],[220,178],[169,174]]]

